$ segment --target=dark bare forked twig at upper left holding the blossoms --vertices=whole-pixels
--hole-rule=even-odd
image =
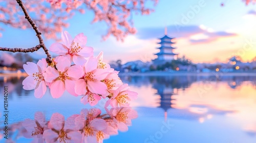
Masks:
[[[37,50],[39,50],[41,47],[42,49],[45,51],[46,55],[47,55],[47,58],[46,58],[46,61],[48,63],[52,63],[52,60],[51,60],[51,55],[44,43],[44,40],[42,39],[41,37],[41,32],[39,31],[39,29],[37,28],[37,26],[35,25],[35,22],[31,19],[28,11],[26,10],[26,7],[25,5],[23,4],[22,0],[16,0],[16,2],[18,3],[18,5],[22,8],[24,14],[25,14],[25,18],[28,20],[28,22],[30,23],[30,25],[32,26],[32,28],[34,29],[35,33],[36,33],[36,36],[39,40],[39,44],[36,45],[35,47],[31,47],[29,49],[22,49],[22,48],[7,48],[7,47],[0,47],[0,51],[8,51],[8,52],[23,52],[23,53],[27,53],[27,52],[35,52]]]

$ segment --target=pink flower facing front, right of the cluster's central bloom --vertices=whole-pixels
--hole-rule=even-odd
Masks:
[[[82,79],[76,81],[75,92],[78,95],[87,94],[88,90],[95,94],[105,94],[108,88],[105,83],[101,82],[108,76],[108,70],[97,68],[98,62],[96,58],[90,57],[84,64],[84,75]],[[88,90],[87,90],[88,89]],[[94,100],[95,94],[89,94],[90,101]]]

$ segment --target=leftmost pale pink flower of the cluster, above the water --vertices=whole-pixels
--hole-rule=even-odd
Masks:
[[[36,98],[41,98],[46,93],[47,87],[43,76],[46,71],[47,63],[46,59],[41,59],[37,64],[33,62],[27,62],[23,65],[24,70],[29,75],[22,84],[25,90],[35,89],[34,95]]]

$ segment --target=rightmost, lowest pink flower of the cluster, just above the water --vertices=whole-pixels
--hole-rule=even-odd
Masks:
[[[117,90],[115,90],[110,96],[112,96],[105,104],[105,107],[111,105],[112,107],[128,107],[132,100],[137,98],[138,93],[130,91],[128,84],[123,84]]]

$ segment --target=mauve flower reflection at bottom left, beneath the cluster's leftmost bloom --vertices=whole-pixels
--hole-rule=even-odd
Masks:
[[[35,120],[26,119],[22,126],[27,130],[24,136],[34,138],[34,142],[45,142],[42,134],[48,129],[45,115],[42,112],[35,113]]]

